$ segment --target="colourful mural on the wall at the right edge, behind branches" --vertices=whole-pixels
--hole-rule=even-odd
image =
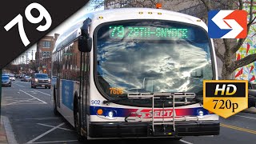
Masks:
[[[243,10],[249,11],[250,6],[244,6]],[[256,6],[254,6],[254,11]],[[256,14],[254,14],[254,17]],[[248,16],[249,18],[249,16]],[[249,54],[256,53],[256,24],[250,26],[250,31],[245,42],[242,44],[241,48],[236,53],[237,60],[244,58]],[[250,82],[256,83],[256,62],[252,62],[247,66],[243,66],[235,70],[235,79],[248,80]]]

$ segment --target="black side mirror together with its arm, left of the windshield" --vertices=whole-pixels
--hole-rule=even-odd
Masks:
[[[91,19],[86,18],[81,27],[81,35],[78,38],[78,50],[81,52],[90,52],[92,47],[92,38],[89,36],[89,25]]]

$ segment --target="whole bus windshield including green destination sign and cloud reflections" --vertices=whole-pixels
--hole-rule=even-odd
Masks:
[[[95,79],[110,99],[134,92],[202,94],[202,80],[213,79],[210,39],[199,26],[111,22],[94,34]]]

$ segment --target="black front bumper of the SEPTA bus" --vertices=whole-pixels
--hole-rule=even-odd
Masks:
[[[125,138],[125,137],[182,137],[218,135],[218,121],[175,122],[173,125],[154,125],[142,122],[91,122],[90,138]]]

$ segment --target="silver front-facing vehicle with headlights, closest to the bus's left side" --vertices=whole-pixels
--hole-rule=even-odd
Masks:
[[[48,74],[35,73],[32,75],[31,88],[37,88],[37,86],[50,89],[50,78],[48,78]]]

